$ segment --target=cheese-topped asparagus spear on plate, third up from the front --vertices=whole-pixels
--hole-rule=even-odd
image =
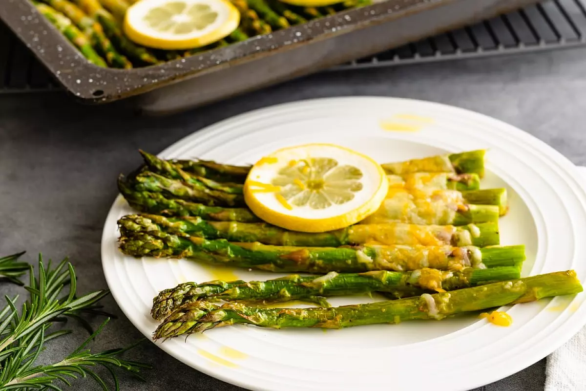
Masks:
[[[309,273],[408,271],[424,267],[438,270],[490,268],[517,266],[525,259],[524,246],[269,246],[178,236],[161,231],[128,232],[120,237],[119,244],[122,253],[136,257],[188,258],[268,271]]]

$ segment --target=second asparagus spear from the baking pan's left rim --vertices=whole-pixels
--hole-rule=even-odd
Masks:
[[[128,59],[117,52],[110,40],[105,36],[104,30],[100,23],[86,15],[75,4],[67,0],[43,0],[46,4],[52,6],[57,11],[63,13],[67,18],[71,19],[79,29],[90,39],[94,49],[97,50],[108,63],[108,65],[115,68],[132,68],[132,63]]]

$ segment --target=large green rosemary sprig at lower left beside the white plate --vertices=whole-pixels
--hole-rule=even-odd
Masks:
[[[106,314],[100,310],[101,306],[97,302],[109,292],[100,290],[77,297],[75,271],[67,259],[56,267],[52,267],[49,261],[45,267],[39,256],[38,277],[35,277],[32,266],[26,265],[29,269],[29,283],[25,289],[30,294],[29,300],[23,303],[19,313],[15,304],[18,297],[6,297],[6,307],[0,311],[0,389],[61,390],[59,381],[71,385],[71,379],[90,376],[102,389],[108,390],[105,380],[94,371],[95,366],[103,366],[108,370],[116,390],[119,386],[115,369],[141,378],[138,371],[148,368],[147,365],[119,357],[132,346],[100,353],[92,353],[87,349],[110,318],[105,319],[96,331],[90,331],[91,335],[86,341],[62,361],[35,366],[40,352],[45,350],[45,342],[70,333],[69,330],[50,332],[53,322],[69,317],[90,329],[91,326],[82,315]]]

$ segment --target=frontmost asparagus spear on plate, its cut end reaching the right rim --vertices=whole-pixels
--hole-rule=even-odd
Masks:
[[[582,285],[575,271],[569,270],[445,293],[334,308],[259,308],[231,303],[219,307],[210,302],[196,301],[169,315],[156,329],[153,338],[171,338],[236,323],[271,328],[343,328],[396,324],[412,319],[443,319],[461,312],[486,310],[581,291]]]

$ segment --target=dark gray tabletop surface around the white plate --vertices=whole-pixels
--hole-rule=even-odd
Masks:
[[[80,106],[60,93],[0,96],[0,254],[27,250],[29,261],[40,251],[53,259],[70,256],[81,293],[106,288],[101,230],[117,195],[115,178],[139,164],[138,148],[157,153],[232,115],[306,98],[397,96],[469,108],[516,125],[575,164],[586,164],[585,70],[586,51],[580,49],[322,73],[168,118]],[[22,293],[0,285],[0,294],[16,291]],[[119,318],[108,325],[96,349],[124,346],[141,336],[111,297],[104,304]],[[43,361],[62,358],[85,336],[77,329],[71,338],[53,342]],[[154,369],[145,370],[147,383],[122,376],[123,390],[239,389],[183,365],[149,342],[129,356]],[[485,389],[541,390],[544,368],[542,360]],[[74,389],[97,387],[85,381]]]

